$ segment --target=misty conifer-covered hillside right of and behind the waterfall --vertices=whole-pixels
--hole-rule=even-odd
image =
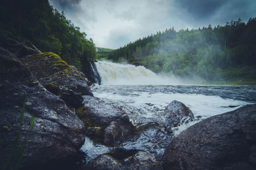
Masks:
[[[256,18],[226,25],[175,31],[138,39],[101,57],[207,81],[255,83]]]

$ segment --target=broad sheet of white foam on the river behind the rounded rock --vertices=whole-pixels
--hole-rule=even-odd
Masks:
[[[125,87],[124,87],[125,90]],[[135,108],[154,108],[160,110],[164,108],[171,101],[180,101],[188,106],[193,111],[195,117],[207,118],[227,111],[235,110],[237,107],[230,108],[228,106],[244,106],[249,104],[245,101],[237,101],[234,99],[223,99],[219,96],[205,96],[202,94],[164,94],[162,92],[148,93],[148,92],[134,92],[132,95],[122,95],[109,92],[93,92],[96,97],[109,99],[116,102],[130,104]],[[136,95],[135,95],[136,94]],[[148,106],[148,103],[152,106]],[[152,114],[153,113],[153,114]],[[148,112],[145,117],[154,117],[154,112]]]

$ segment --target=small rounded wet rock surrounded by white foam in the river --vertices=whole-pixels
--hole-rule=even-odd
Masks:
[[[192,111],[179,101],[172,101],[166,106],[163,116],[166,127],[177,127],[194,119]]]

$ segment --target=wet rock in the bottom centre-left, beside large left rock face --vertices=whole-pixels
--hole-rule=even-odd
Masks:
[[[88,127],[86,136],[104,145],[118,145],[134,133],[123,110],[97,97],[84,96],[84,107],[76,113]]]

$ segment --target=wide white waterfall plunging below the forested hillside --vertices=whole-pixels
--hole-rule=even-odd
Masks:
[[[173,84],[170,78],[157,76],[143,66],[118,64],[108,61],[95,62],[102,85],[163,85]]]

